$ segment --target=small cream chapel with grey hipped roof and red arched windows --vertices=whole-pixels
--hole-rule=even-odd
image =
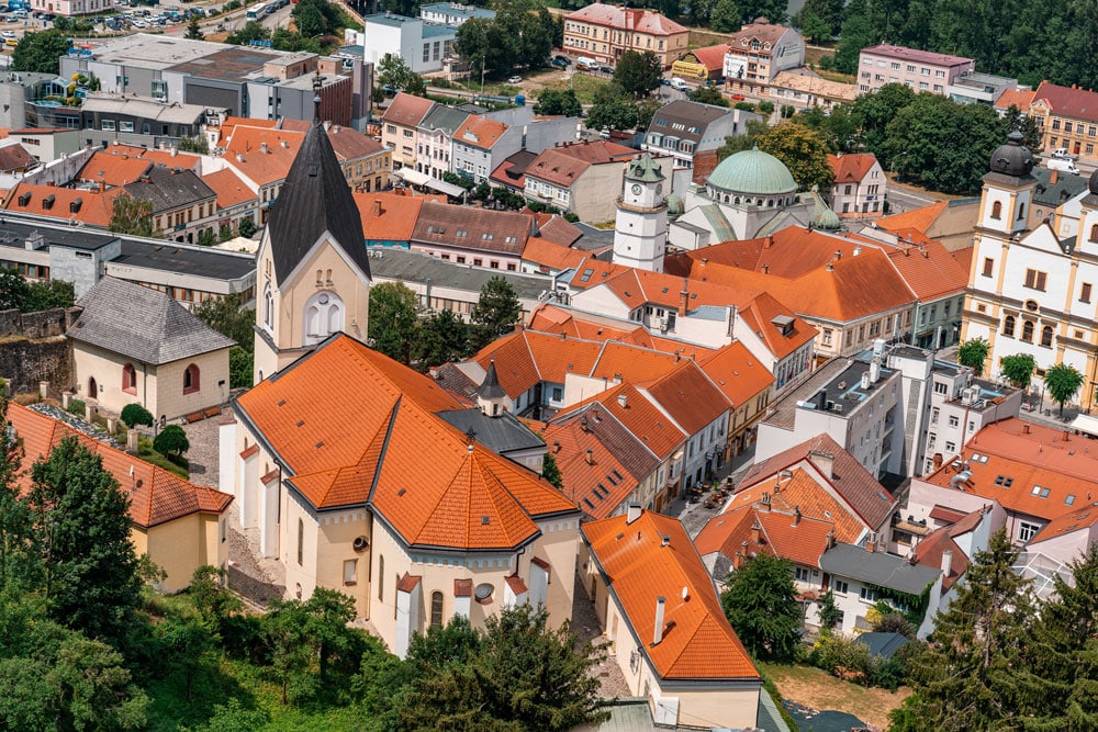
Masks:
[[[77,303],[70,386],[119,413],[141,404],[161,423],[228,402],[228,349],[167,294],[105,277]]]

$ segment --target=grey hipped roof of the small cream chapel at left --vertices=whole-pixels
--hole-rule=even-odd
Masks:
[[[163,292],[104,277],[77,303],[65,334],[126,358],[160,365],[229,348],[233,341]]]

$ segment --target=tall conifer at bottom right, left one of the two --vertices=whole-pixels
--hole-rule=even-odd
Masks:
[[[977,552],[926,651],[911,663],[915,694],[893,720],[918,729],[1013,727],[1018,669],[1034,612],[1029,581],[1013,571],[1018,550],[1004,530]]]

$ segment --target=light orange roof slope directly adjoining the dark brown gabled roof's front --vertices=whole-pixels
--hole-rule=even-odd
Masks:
[[[742,491],[737,491],[724,513],[739,510],[744,506],[765,504],[770,500],[771,510],[780,510],[792,515],[799,510],[802,517],[825,521],[834,526],[837,541],[855,544],[862,536],[876,527],[867,526],[859,516],[842,502],[827,492],[803,468],[792,471],[792,477],[785,477],[775,492],[776,481],[758,483]],[[768,494],[766,497],[763,494]]]

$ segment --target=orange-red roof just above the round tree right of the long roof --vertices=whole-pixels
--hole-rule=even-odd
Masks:
[[[759,527],[758,541],[753,531],[755,526]],[[766,552],[797,564],[818,567],[832,531],[834,523],[831,521],[798,517],[796,511],[787,513],[755,504],[710,518],[694,538],[694,545],[702,556],[720,552],[733,565],[737,553],[746,560]]]

